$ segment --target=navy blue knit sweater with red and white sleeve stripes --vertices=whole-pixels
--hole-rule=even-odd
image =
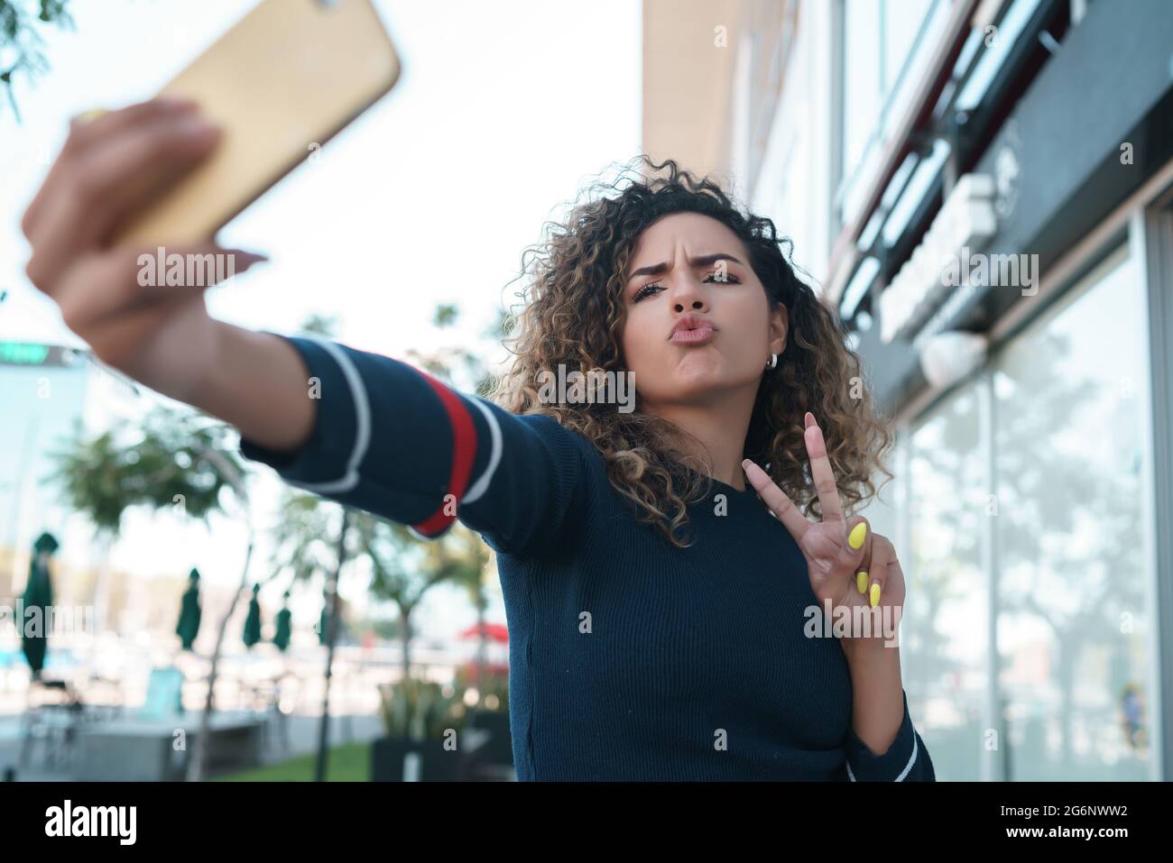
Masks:
[[[679,549],[552,417],[399,360],[290,342],[320,385],[310,440],[294,454],[245,440],[242,454],[421,536],[459,517],[493,548],[518,780],[935,779],[907,694],[887,752],[852,731],[843,652],[805,634],[806,563],[752,488],[713,481]]]

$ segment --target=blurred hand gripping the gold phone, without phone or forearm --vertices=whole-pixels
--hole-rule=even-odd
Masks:
[[[204,373],[211,319],[209,284],[143,284],[143,250],[111,246],[110,233],[165,195],[216,148],[221,132],[195,103],[151,100],[70,124],[69,137],[21,219],[33,249],[26,272],[61,308],[95,356],[161,392]],[[243,272],[259,256],[210,240],[172,254],[233,256]],[[151,284],[154,283],[154,284]],[[215,280],[211,280],[215,284]]]

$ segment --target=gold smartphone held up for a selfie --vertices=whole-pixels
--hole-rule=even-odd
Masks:
[[[115,242],[211,238],[389,91],[399,73],[371,0],[262,0],[160,91],[195,100],[221,140]]]

